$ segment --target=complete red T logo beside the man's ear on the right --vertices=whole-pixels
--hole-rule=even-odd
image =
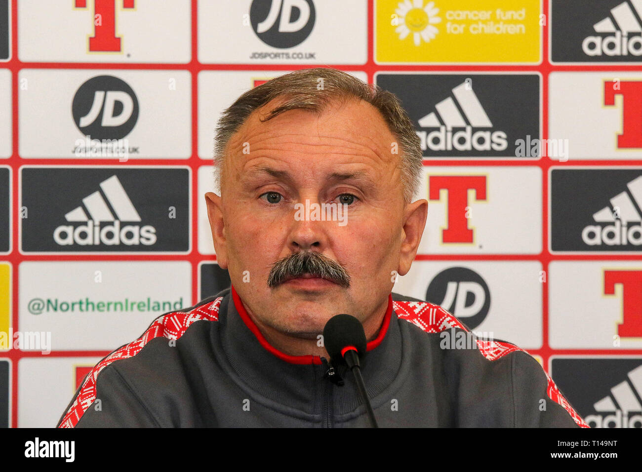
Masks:
[[[485,175],[431,175],[428,177],[428,199],[439,201],[446,190],[447,227],[442,230],[444,243],[473,243],[473,230],[468,227],[466,207],[468,191],[475,191],[475,200],[486,200]]]

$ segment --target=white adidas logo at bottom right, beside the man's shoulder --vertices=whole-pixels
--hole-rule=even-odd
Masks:
[[[642,397],[642,365],[630,371],[628,376],[629,381],[618,383],[611,389],[610,396],[605,396],[593,404],[596,412],[613,414],[585,416],[584,421],[591,428],[642,428],[642,405],[639,402],[639,398]],[[631,415],[631,412],[638,414]]]

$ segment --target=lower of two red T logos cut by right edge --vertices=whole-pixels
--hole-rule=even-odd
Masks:
[[[642,270],[605,270],[604,295],[615,295],[615,285],[622,285],[622,338],[642,337]]]

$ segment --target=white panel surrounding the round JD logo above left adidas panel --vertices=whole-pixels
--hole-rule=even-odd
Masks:
[[[98,75],[123,80],[136,95],[139,114],[134,128],[125,136],[132,148],[127,159],[191,156],[192,91],[188,71],[22,69],[19,80],[26,81],[28,89],[19,91],[21,157],[105,159],[74,153],[76,141],[84,142],[85,136],[74,123],[71,105],[78,88]],[[117,155],[108,159],[120,161]]]

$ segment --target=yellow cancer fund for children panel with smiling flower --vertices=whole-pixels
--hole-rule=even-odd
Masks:
[[[376,0],[377,64],[537,64],[540,0]]]

